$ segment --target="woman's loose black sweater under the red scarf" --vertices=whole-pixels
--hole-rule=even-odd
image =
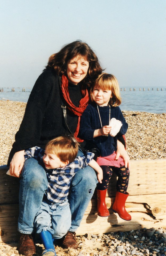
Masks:
[[[68,84],[70,99],[78,107],[82,98],[80,85]],[[75,132],[78,117],[67,109],[67,123]],[[25,114],[9,155],[8,165],[15,152],[34,146],[45,148],[55,137],[69,134],[60,99],[59,77],[52,70],[44,70],[29,96]]]

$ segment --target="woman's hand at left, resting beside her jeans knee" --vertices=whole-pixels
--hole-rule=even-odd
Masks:
[[[9,168],[11,175],[19,178],[22,167],[24,165],[24,161],[24,150],[18,151],[14,154],[13,158],[11,159]]]

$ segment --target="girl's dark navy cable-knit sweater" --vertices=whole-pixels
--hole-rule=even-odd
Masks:
[[[102,126],[100,123],[98,109]],[[100,156],[110,156],[117,149],[117,137],[122,136],[127,132],[128,124],[126,123],[120,108],[111,106],[110,117],[116,118],[117,120],[120,120],[122,122],[122,127],[120,128],[118,135],[116,135],[115,137],[109,135],[98,136],[94,138],[94,131],[96,129],[100,129],[104,125],[109,124],[110,107],[98,106],[98,109],[96,103],[89,104],[87,106],[86,110],[81,116],[79,136],[86,141],[94,143],[95,146],[100,150]]]

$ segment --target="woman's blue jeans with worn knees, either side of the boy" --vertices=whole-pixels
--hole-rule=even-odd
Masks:
[[[78,155],[82,155],[79,150]],[[72,178],[68,197],[71,210],[70,231],[76,231],[98,183],[95,171],[87,166]],[[25,161],[20,179],[18,231],[31,234],[48,181],[43,166],[34,158]],[[91,192],[89,190],[91,189]]]

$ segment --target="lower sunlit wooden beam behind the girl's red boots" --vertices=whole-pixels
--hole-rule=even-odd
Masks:
[[[118,214],[113,213],[111,211],[113,203],[114,198],[106,198],[110,216],[100,217],[97,215],[96,199],[92,199],[76,234],[130,231],[144,227],[166,227],[166,193],[129,196],[125,208],[132,216],[131,221],[122,220]]]

